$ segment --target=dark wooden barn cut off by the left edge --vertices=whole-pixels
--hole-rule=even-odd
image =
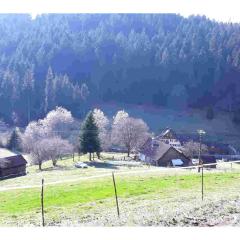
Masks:
[[[26,175],[26,164],[22,155],[0,158],[0,179]]]

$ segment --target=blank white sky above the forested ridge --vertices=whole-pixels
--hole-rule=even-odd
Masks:
[[[239,2],[239,3],[238,3]],[[239,0],[0,0],[0,13],[179,13],[240,23]]]

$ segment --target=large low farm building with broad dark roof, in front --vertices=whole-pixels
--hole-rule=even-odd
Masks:
[[[146,163],[162,167],[184,167],[191,160],[182,152],[160,140],[149,138],[139,153],[139,159]]]

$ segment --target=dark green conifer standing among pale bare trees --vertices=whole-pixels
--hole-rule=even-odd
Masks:
[[[99,130],[94,121],[93,112],[86,116],[79,136],[79,148],[82,153],[89,153],[89,160],[92,160],[92,153],[96,152],[98,157],[101,152]]]

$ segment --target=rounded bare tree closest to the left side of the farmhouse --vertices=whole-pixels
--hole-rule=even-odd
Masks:
[[[132,150],[138,150],[149,137],[148,126],[142,119],[124,117],[113,124],[113,143],[125,146],[128,156]]]

